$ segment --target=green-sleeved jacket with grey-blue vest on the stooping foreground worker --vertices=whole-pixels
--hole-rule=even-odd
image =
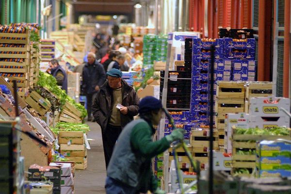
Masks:
[[[114,146],[107,175],[137,192],[155,191],[157,181],[151,170],[151,159],[170,147],[166,138],[153,142],[155,129],[144,119],[131,121],[121,132]]]

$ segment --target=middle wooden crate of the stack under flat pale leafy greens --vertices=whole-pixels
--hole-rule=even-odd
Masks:
[[[65,157],[85,157],[87,156],[87,148],[84,145],[77,144],[61,144],[61,154]]]

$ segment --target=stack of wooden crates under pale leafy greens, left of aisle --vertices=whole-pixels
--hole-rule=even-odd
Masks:
[[[61,154],[69,161],[75,162],[76,169],[87,168],[87,148],[82,131],[60,131],[59,143]]]

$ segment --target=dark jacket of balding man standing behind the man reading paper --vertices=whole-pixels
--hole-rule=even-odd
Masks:
[[[106,80],[106,73],[103,66],[95,61],[91,66],[88,63],[85,64],[82,74],[82,88],[86,94],[96,93],[95,87],[98,85],[101,87]]]

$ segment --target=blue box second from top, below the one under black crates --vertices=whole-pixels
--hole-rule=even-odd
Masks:
[[[255,49],[225,49],[224,59],[232,60],[255,60]]]

